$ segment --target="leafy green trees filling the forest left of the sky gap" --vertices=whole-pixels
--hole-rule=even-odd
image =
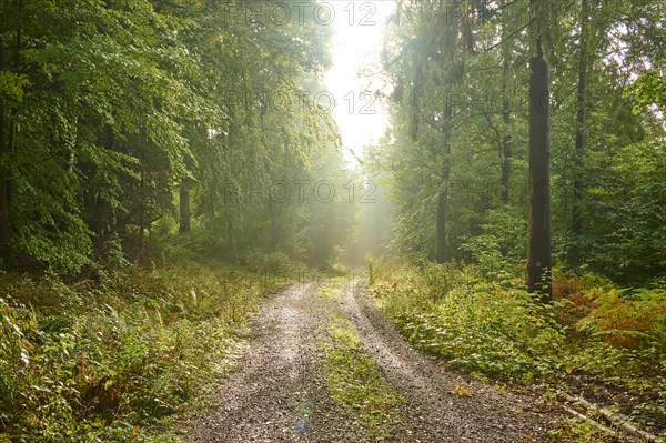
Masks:
[[[349,181],[332,118],[311,99],[327,27],[296,4],[283,22],[248,20],[275,8],[261,3],[2,3],[3,269],[75,274],[119,245],[147,263],[153,231],[174,233],[174,220],[211,255],[335,259],[351,207],[272,191]]]

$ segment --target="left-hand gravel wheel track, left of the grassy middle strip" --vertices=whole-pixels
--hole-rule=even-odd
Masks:
[[[314,283],[271,298],[252,321],[238,371],[222,386],[214,410],[190,441],[356,442],[359,426],[337,413],[327,395],[320,343],[334,303]]]

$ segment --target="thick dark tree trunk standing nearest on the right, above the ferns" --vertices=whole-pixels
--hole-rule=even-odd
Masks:
[[[538,0],[532,0],[535,3]],[[538,19],[537,21],[537,28]],[[527,289],[552,300],[549,79],[542,38],[529,60],[529,256]]]

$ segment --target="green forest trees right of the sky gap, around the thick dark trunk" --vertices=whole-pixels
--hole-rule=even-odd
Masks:
[[[623,285],[664,276],[663,18],[654,0],[463,1],[455,13],[400,2],[383,52],[392,124],[365,153],[395,207],[392,250],[494,269],[526,259],[538,30],[552,84],[552,195],[539,197],[556,263]]]

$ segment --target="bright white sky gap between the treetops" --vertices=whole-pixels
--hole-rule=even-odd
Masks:
[[[335,99],[333,115],[342,134],[345,158],[355,164],[349,149],[361,155],[364,145],[382,135],[389,120],[384,104],[374,94],[381,88],[380,75],[367,74],[381,71],[385,23],[395,2],[332,0],[326,4],[335,9],[335,17],[331,23],[333,67],[324,81]]]

